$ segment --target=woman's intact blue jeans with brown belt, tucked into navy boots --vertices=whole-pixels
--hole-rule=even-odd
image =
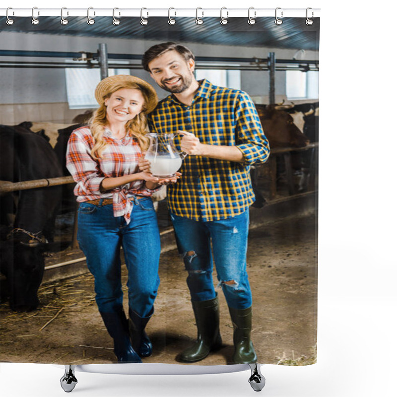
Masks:
[[[120,261],[120,247],[123,247],[129,307],[140,317],[150,315],[160,284],[160,235],[151,198],[134,199],[128,225],[123,216],[113,216],[112,204],[81,202],[77,240],[95,278],[99,311],[111,313],[123,307]]]

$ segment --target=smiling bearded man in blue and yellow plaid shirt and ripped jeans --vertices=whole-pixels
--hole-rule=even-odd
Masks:
[[[248,209],[255,197],[249,170],[269,155],[255,105],[243,91],[197,81],[195,56],[185,46],[152,46],[142,65],[171,92],[149,115],[150,131],[175,133],[177,146],[189,154],[180,181],[167,192],[198,328],[196,343],[181,353],[180,360],[202,360],[222,345],[212,242],[219,286],[234,326],[232,362],[254,363],[252,294],[246,271]],[[140,167],[146,170],[150,164],[142,162]]]

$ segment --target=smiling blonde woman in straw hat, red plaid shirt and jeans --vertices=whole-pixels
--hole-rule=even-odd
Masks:
[[[160,236],[150,196],[164,181],[137,169],[147,148],[146,113],[157,105],[157,94],[137,77],[116,75],[98,84],[95,97],[100,107],[88,127],[72,132],[66,153],[79,202],[77,239],[94,275],[96,303],[118,362],[140,363],[152,352],[144,329],[160,283]],[[121,247],[128,268],[129,322]]]

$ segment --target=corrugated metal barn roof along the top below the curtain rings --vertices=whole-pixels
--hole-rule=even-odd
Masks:
[[[273,17],[257,18],[254,25],[249,25],[248,18],[243,17],[229,18],[226,25],[221,25],[219,18],[215,17],[204,18],[202,25],[197,25],[195,18],[189,17],[175,18],[175,25],[169,25],[168,19],[164,17],[150,17],[145,26],[140,24],[140,18],[135,17],[120,18],[121,23],[117,26],[113,25],[112,17],[107,16],[96,17],[93,25],[87,24],[86,17],[70,17],[68,24],[62,25],[59,16],[43,16],[36,26],[27,17],[14,18],[15,23],[10,26],[5,19],[0,18],[2,31],[313,51],[319,49],[320,18],[314,18],[311,26],[305,24],[305,18],[283,18],[283,23],[276,25]],[[241,35],[241,31],[245,34]]]

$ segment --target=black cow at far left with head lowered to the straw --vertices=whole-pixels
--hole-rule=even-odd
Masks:
[[[1,181],[21,182],[63,175],[49,142],[23,126],[0,126],[0,150]],[[54,240],[61,192],[61,187],[54,186],[1,196],[0,269],[6,277],[12,310],[30,311],[39,304],[37,290],[44,272],[43,253],[48,250],[47,242]],[[6,224],[5,213],[14,210],[14,221]]]

